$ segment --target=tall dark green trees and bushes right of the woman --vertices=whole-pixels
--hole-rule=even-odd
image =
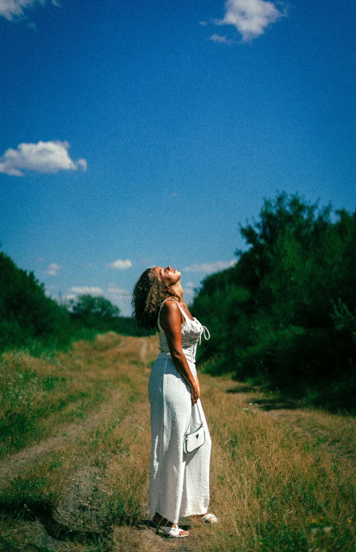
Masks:
[[[240,232],[247,250],[206,277],[193,302],[211,331],[200,361],[213,374],[278,388],[318,384],[324,399],[353,402],[356,212],[280,193]]]

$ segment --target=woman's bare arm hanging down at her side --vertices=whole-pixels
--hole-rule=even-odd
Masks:
[[[163,304],[159,323],[166,334],[172,361],[179,374],[188,383],[192,402],[195,404],[200,397],[199,383],[195,381],[192,372],[190,372],[186,356],[181,348],[181,311],[175,301],[166,301]]]

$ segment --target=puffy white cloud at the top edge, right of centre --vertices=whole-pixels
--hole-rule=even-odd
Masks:
[[[262,35],[270,23],[285,15],[274,3],[265,0],[227,0],[225,8],[224,19],[216,19],[215,24],[234,25],[242,35],[242,42]]]

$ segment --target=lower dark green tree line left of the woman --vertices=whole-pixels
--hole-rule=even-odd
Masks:
[[[47,297],[35,275],[0,252],[0,350],[16,347],[61,349],[98,331],[141,336],[145,331],[105,297],[79,295],[69,304]]]

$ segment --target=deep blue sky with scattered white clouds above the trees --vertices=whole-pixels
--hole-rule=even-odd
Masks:
[[[0,241],[48,294],[185,298],[239,223],[298,192],[356,207],[356,4],[0,0]]]

